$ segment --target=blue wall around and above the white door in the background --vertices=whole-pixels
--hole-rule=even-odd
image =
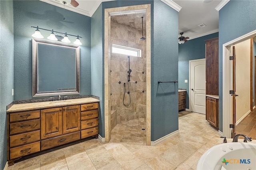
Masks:
[[[209,34],[179,44],[179,88],[187,89],[186,108],[189,109],[189,60],[205,58],[205,40],[218,37],[219,34]],[[188,80],[188,83],[185,83]]]

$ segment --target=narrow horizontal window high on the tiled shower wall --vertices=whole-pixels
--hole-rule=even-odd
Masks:
[[[112,53],[119,53],[119,54],[141,57],[141,50],[140,49],[125,47],[125,46],[116,45],[116,44],[112,45]]]

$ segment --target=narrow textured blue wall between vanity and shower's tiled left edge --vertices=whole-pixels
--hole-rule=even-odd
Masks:
[[[99,110],[99,134],[105,137],[104,117],[104,47],[102,46],[104,24],[102,24],[102,4],[94,12],[91,18],[91,74],[92,74],[92,95],[100,97]]]

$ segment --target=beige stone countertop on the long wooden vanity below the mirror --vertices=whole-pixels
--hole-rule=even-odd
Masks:
[[[19,112],[19,111],[27,111],[27,110],[35,110],[35,109],[46,109],[51,107],[62,107],[76,104],[84,104],[84,103],[93,103],[99,102],[98,99],[94,99],[92,97],[80,98],[80,99],[69,99],[69,100],[61,100],[61,101],[44,101],[44,102],[36,102],[36,103],[22,103],[22,104],[14,104],[10,109],[6,112]]]

